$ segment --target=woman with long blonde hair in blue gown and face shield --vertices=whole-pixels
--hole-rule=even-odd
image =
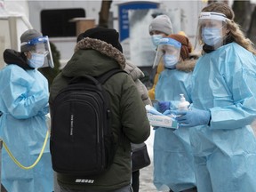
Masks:
[[[193,108],[172,111],[190,131],[199,192],[256,191],[256,52],[234,17],[220,2],[200,13],[205,53],[194,69]]]

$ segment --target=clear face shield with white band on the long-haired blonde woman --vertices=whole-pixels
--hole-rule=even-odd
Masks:
[[[220,12],[201,12],[198,20],[196,45],[207,44],[215,49],[223,45],[228,18]]]

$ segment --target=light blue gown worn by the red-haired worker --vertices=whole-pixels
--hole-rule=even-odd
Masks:
[[[188,102],[191,74],[177,69],[164,69],[156,84],[156,100],[180,101],[180,93]],[[193,156],[190,148],[188,128],[173,130],[159,127],[154,140],[154,184],[165,185],[173,191],[196,186]]]

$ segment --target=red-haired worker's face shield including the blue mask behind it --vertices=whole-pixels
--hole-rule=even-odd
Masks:
[[[180,42],[170,37],[160,39],[153,68],[158,66],[162,58],[164,59],[165,68],[174,68],[177,62],[180,60],[180,49]]]

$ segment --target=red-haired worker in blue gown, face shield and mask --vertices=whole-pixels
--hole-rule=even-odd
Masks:
[[[196,60],[189,60],[192,46],[186,36],[172,34],[160,39],[155,65],[164,60],[164,71],[156,84],[160,112],[175,108],[180,94],[188,101],[192,70]],[[158,190],[196,191],[193,156],[188,129],[157,127],[154,140],[154,184]]]

